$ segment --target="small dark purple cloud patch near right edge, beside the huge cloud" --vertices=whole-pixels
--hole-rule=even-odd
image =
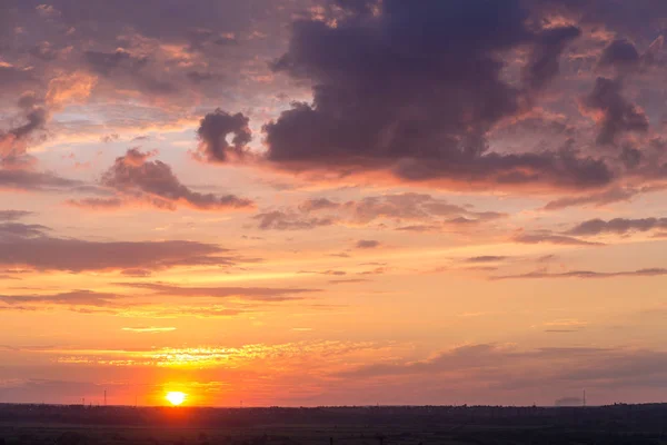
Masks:
[[[583,100],[584,107],[595,113],[598,122],[597,144],[614,144],[618,136],[629,131],[648,131],[648,118],[641,109],[628,102],[621,91],[620,80],[598,77],[593,91]]]

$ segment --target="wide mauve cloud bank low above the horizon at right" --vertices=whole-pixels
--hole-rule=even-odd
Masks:
[[[456,382],[484,382],[484,390],[566,387],[659,386],[667,377],[663,350],[595,347],[542,347],[472,344],[445,350],[427,359],[394,359],[337,373],[340,378],[376,379],[432,376]],[[637,378],[637,376],[640,376]],[[395,380],[394,380],[395,382]],[[659,383],[658,383],[659,382]]]

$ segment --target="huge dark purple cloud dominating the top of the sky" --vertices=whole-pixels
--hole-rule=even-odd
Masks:
[[[490,151],[487,132],[530,102],[558,72],[577,28],[534,31],[520,1],[389,0],[348,8],[336,27],[299,20],[275,69],[313,85],[265,126],[268,160],[291,170],[391,171],[408,181],[597,187],[604,161],[574,150]],[[400,43],[399,43],[400,42]],[[504,80],[497,55],[534,49],[527,86]]]

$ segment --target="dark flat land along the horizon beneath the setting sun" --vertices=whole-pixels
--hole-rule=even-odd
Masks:
[[[667,444],[667,405],[135,408],[0,405],[0,445]]]

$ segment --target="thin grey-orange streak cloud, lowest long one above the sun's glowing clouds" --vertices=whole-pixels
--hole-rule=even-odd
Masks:
[[[150,290],[153,295],[178,297],[240,298],[258,301],[301,299],[297,294],[317,293],[319,289],[272,287],[186,287],[161,283],[122,283],[122,286]]]

